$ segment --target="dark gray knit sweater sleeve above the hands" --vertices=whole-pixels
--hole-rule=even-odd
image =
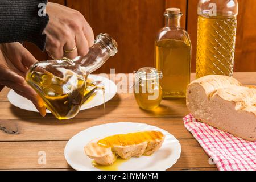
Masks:
[[[47,0],[0,0],[0,43],[28,41],[43,51],[49,17],[38,15],[39,3]]]

